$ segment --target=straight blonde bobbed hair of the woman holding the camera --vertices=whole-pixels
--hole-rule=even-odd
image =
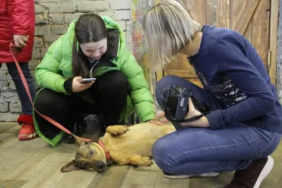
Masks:
[[[181,49],[190,44],[201,26],[176,1],[165,0],[152,6],[142,23],[148,44],[149,65],[160,70]]]

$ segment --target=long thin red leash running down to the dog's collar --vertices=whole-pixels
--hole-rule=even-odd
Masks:
[[[23,71],[20,68],[20,65],[18,64],[18,61],[17,61],[16,57],[14,56],[14,52],[16,52],[18,54],[18,53],[20,53],[20,50],[17,47],[14,46],[13,41],[10,43],[10,51],[11,51],[11,54],[13,56],[13,61],[15,61],[15,63],[16,63],[16,66],[17,66],[17,69],[18,69],[18,73],[20,73],[20,78],[23,81],[23,85],[25,87],[25,91],[27,92],[27,96],[30,98],[30,102],[31,102],[33,108],[35,109],[35,111],[42,118],[44,118],[45,120],[49,121],[49,123],[55,125],[56,127],[58,127],[59,129],[63,130],[64,132],[66,132],[68,134],[71,134],[71,132],[69,130],[67,130],[65,127],[63,127],[63,125],[61,125],[60,123],[57,123],[55,120],[53,120],[53,119],[49,118],[48,116],[46,116],[46,115],[44,115],[42,113],[39,113],[39,111],[37,111],[37,109],[35,108],[35,106],[34,106],[34,104],[32,102],[32,98],[31,98],[31,95],[30,95],[30,89],[27,86],[27,81],[25,80],[25,76],[23,75]],[[82,138],[82,137],[78,137],[78,138],[84,140],[85,142],[91,142],[92,141],[91,139],[85,139],[85,138]]]

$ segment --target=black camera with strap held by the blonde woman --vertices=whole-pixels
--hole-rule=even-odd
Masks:
[[[201,111],[201,115],[196,115],[192,118],[185,119],[185,115],[189,111],[188,99],[191,98],[192,103],[198,111]],[[169,89],[168,98],[164,107],[164,116],[170,120],[176,127],[176,130],[184,129],[180,123],[190,122],[198,120],[208,113],[209,107],[205,104],[199,103],[190,89],[185,87],[172,86]]]

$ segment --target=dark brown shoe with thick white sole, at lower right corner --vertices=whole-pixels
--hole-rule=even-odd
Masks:
[[[259,188],[274,166],[271,156],[253,161],[245,170],[236,170],[233,180],[224,188]]]

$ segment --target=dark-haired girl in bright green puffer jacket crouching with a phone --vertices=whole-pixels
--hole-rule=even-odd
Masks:
[[[135,110],[142,122],[154,121],[154,108],[142,68],[125,48],[121,27],[111,18],[81,15],[54,42],[35,68],[42,89],[35,99],[40,113],[80,136],[82,113],[103,114],[102,134]],[[82,78],[97,80],[81,83]],[[51,146],[63,132],[34,111],[35,128]],[[155,123],[158,123],[155,121]],[[63,142],[74,143],[71,135]]]

